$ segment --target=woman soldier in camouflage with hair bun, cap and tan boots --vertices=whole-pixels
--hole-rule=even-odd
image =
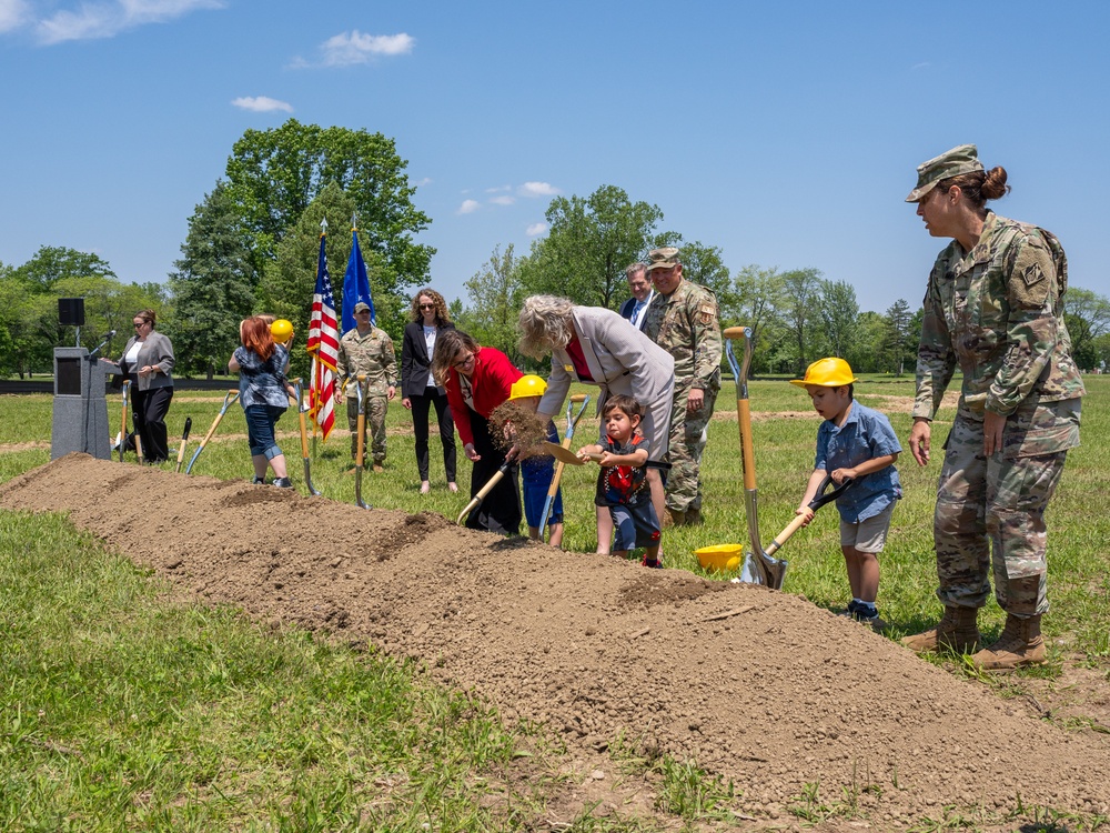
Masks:
[[[1006,628],[972,661],[1001,670],[1045,661],[1041,615],[1048,505],[1068,449],[1079,444],[1083,383],[1063,320],[1068,265],[1054,235],[987,210],[1010,189],[973,144],[918,169],[907,202],[932,237],[952,238],[925,294],[909,446],[929,461],[930,421],[956,368],[959,405],[945,443],[934,538],[940,623],[904,642],[915,651],[976,650],[990,592]]]

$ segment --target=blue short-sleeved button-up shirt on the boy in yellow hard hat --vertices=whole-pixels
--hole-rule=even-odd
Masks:
[[[886,414],[859,402],[852,402],[844,425],[837,428],[825,420],[817,429],[817,459],[815,469],[834,471],[851,469],[871,460],[901,451],[898,436]],[[857,478],[856,482],[836,499],[840,518],[848,523],[859,523],[872,518],[901,498],[898,470],[888,465],[879,471]]]

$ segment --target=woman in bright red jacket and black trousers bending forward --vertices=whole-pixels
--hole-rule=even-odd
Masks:
[[[463,441],[463,451],[474,463],[471,498],[506,464],[490,433],[490,414],[508,399],[513,382],[523,373],[500,350],[481,347],[461,330],[442,330],[432,357],[432,373],[447,391],[451,415]],[[466,519],[472,530],[519,534],[521,490],[517,465],[508,465],[505,476]]]

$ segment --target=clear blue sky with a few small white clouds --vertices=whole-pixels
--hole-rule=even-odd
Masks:
[[[250,128],[396,140],[448,298],[602,184],[730,269],[814,267],[917,305],[936,252],[904,203],[963,142],[1005,215],[1110,294],[1110,3],[0,0],[0,261],[93,251],[162,281]]]

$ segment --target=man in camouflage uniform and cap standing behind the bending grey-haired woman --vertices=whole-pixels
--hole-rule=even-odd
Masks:
[[[667,511],[672,523],[702,522],[702,453],[720,390],[720,321],[717,298],[683,278],[674,247],[648,254],[655,298],[644,334],[675,357],[675,399],[670,410],[670,472]]]

